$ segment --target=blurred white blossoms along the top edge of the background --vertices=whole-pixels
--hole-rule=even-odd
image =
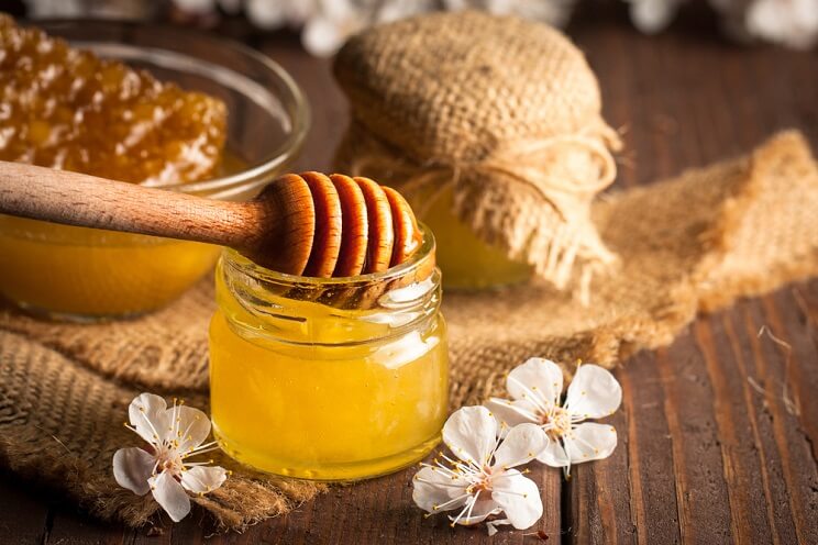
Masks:
[[[368,25],[433,10],[479,9],[564,26],[581,1],[588,0],[2,0],[0,11],[31,19],[163,18],[203,27],[244,18],[262,30],[300,32],[307,51],[328,56]],[[818,0],[610,1],[627,2],[633,26],[646,34],[665,30],[685,4],[706,3],[722,33],[737,43],[804,49],[818,41]]]

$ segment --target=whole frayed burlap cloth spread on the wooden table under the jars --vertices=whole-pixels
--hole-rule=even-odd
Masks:
[[[590,307],[544,282],[445,297],[452,407],[479,401],[529,356],[612,367],[671,342],[697,311],[818,274],[818,169],[795,132],[750,156],[610,194],[593,218],[622,267],[595,280]],[[115,485],[111,457],[139,444],[122,422],[140,391],[207,407],[212,310],[208,280],[131,322],[54,324],[3,311],[2,464],[98,516],[151,520],[156,504]],[[286,512],[323,488],[234,469],[221,489],[194,500],[231,529]]]

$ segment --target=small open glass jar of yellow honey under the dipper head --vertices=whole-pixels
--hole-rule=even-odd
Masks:
[[[213,433],[256,469],[317,480],[397,470],[440,441],[446,329],[427,227],[405,264],[295,277],[226,249],[210,327]]]

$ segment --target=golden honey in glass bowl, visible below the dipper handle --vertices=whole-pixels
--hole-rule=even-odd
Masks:
[[[219,247],[0,215],[0,290],[62,319],[158,309],[207,274]]]

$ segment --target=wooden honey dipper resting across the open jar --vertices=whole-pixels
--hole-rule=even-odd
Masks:
[[[0,213],[230,246],[258,265],[312,277],[379,272],[421,234],[406,200],[368,178],[284,175],[230,202],[0,162]]]

